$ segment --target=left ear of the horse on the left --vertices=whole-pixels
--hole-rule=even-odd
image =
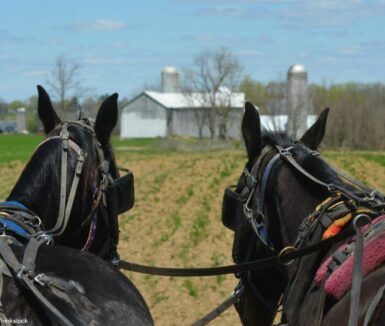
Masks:
[[[40,121],[43,123],[44,131],[48,134],[53,128],[55,128],[61,119],[56,114],[55,109],[52,106],[51,99],[43,87],[37,86],[39,94],[37,101],[37,111]]]

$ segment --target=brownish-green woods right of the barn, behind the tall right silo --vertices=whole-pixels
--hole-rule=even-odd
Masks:
[[[246,76],[239,90],[262,114],[285,114],[286,82],[261,83]],[[348,82],[308,87],[309,113],[330,108],[324,145],[385,150],[385,84]]]

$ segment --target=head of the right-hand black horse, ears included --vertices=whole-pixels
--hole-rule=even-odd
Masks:
[[[257,109],[246,103],[242,134],[248,161],[235,190],[225,190],[222,208],[224,225],[234,231],[236,263],[278,255],[293,246],[301,222],[328,197],[325,187],[288,164],[285,156],[316,180],[340,182],[316,152],[327,115],[328,109],[296,141],[286,133],[262,130]],[[272,324],[294,269],[277,266],[239,275],[245,290],[236,308],[243,324]]]

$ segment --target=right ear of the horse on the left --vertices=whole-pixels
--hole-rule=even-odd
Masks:
[[[95,134],[101,144],[109,142],[111,132],[117,121],[118,93],[115,93],[104,100],[95,120]]]

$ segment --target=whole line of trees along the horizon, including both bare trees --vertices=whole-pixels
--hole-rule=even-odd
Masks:
[[[243,92],[245,98],[260,108],[261,114],[287,114],[286,81],[262,83],[249,76],[241,77],[243,67],[228,49],[202,52],[185,71],[184,92],[199,97],[204,110],[196,110],[195,120],[202,137],[207,126],[210,137],[227,138],[227,123],[232,118],[231,94]],[[107,95],[87,96],[89,90],[80,82],[81,66],[67,57],[57,57],[47,80],[56,98],[54,105],[63,118],[95,117]],[[228,90],[229,92],[224,92]],[[226,95],[228,94],[228,95]],[[56,96],[55,96],[56,95]],[[324,144],[329,148],[385,150],[385,84],[349,82],[334,85],[311,84],[308,87],[309,114],[331,109]],[[196,97],[195,97],[196,99]],[[119,102],[123,108],[128,102]],[[0,120],[14,119],[19,107],[27,109],[30,132],[40,129],[36,96],[25,101],[6,103],[0,99]]]

